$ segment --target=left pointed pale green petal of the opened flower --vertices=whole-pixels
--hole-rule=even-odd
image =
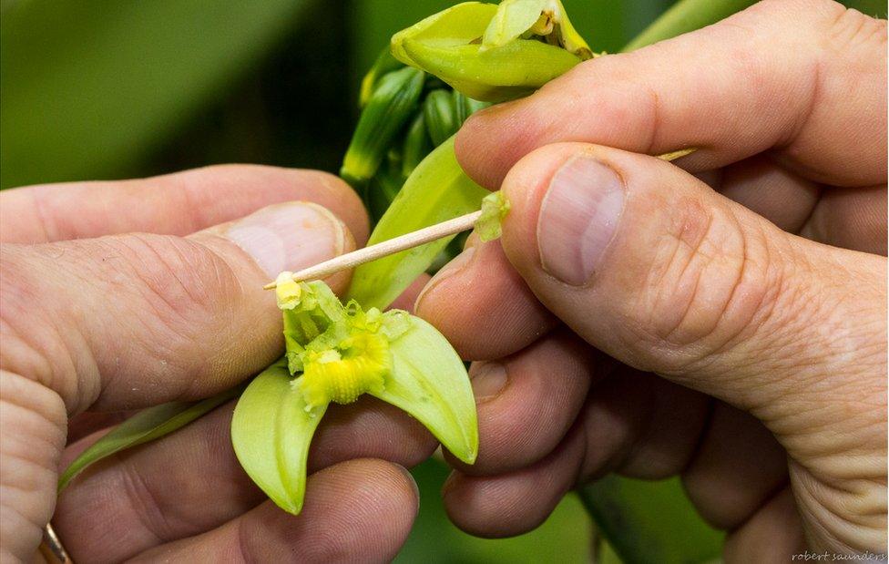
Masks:
[[[250,382],[231,420],[231,444],[240,466],[262,491],[297,515],[305,495],[309,444],[327,406],[309,413],[291,382],[283,360]]]

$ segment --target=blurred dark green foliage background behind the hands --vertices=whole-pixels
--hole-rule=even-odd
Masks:
[[[672,4],[563,2],[590,46],[607,51],[618,50]],[[451,4],[2,0],[0,188],[222,162],[336,171],[357,118],[364,71],[394,31]],[[850,4],[885,16],[885,2]],[[414,470],[421,509],[400,561],[616,560],[608,547],[594,555],[595,528],[575,494],[532,533],[469,537],[442,508],[446,475],[435,460]],[[673,538],[674,546],[659,553],[669,561],[717,558],[720,535],[683,520],[690,512],[677,507],[687,503],[677,501],[679,491],[675,482],[612,477],[588,495],[601,501],[599,511],[608,508]],[[617,497],[620,507],[609,505]],[[664,518],[668,512],[680,518]],[[698,532],[686,534],[690,529]],[[639,558],[647,560],[644,551]]]

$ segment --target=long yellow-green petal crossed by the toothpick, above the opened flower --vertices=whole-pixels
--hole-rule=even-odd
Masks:
[[[423,159],[377,223],[368,245],[478,210],[490,192],[465,175],[449,138]],[[386,308],[423,273],[453,237],[368,262],[355,269],[347,297],[364,308]]]

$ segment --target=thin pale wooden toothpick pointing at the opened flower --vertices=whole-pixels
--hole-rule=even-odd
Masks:
[[[382,259],[395,252],[413,249],[419,245],[428,242],[437,241],[449,235],[455,235],[461,231],[469,231],[475,226],[475,221],[482,215],[482,211],[473,211],[466,215],[461,215],[453,220],[442,221],[418,231],[411,231],[398,237],[394,237],[388,241],[378,242],[370,247],[364,247],[357,251],[347,252],[338,257],[332,258],[330,261],[323,261],[303,269],[300,272],[293,272],[293,280],[295,282],[303,282],[310,280],[322,280],[335,272],[340,272],[347,268],[354,268],[365,262]],[[272,290],[277,286],[275,282],[269,282],[263,288]]]

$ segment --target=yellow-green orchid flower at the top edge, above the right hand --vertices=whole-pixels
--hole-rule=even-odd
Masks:
[[[454,5],[395,34],[392,54],[489,102],[526,96],[593,56],[559,0]]]

